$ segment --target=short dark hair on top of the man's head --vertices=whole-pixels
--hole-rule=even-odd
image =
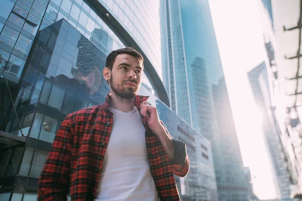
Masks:
[[[143,57],[141,56],[141,54],[139,52],[137,52],[135,49],[133,49],[132,47],[125,47],[122,49],[118,49],[118,50],[113,50],[106,58],[106,64],[105,67],[109,68],[109,70],[112,70],[113,67],[113,63],[115,61],[115,58],[117,57],[117,55],[119,54],[129,54],[131,56],[136,57],[139,62],[142,63],[142,67],[143,67]]]

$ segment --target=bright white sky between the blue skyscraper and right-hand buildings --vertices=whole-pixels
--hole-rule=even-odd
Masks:
[[[265,57],[258,0],[209,0],[244,166],[254,193],[275,198],[271,166],[247,72]]]

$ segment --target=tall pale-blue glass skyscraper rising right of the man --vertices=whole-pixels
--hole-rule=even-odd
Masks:
[[[166,0],[163,11],[171,108],[211,142],[218,199],[249,200],[208,1]]]

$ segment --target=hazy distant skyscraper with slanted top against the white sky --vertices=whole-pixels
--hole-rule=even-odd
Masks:
[[[255,102],[263,115],[262,129],[272,167],[276,195],[277,198],[286,200],[290,197],[290,181],[285,166],[286,163],[284,162],[285,153],[280,139],[279,125],[276,121],[275,107],[271,103],[269,79],[265,63],[259,64],[248,75]]]

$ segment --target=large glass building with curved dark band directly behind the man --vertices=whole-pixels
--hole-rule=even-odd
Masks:
[[[104,102],[106,57],[125,46],[144,56],[139,93],[150,96],[173,137],[187,144],[191,170],[176,177],[182,200],[218,200],[210,142],[169,109],[158,57],[161,39],[155,38],[161,32],[149,32],[160,27],[149,20],[152,12],[159,18],[160,2],[136,3],[2,0],[0,200],[37,199],[38,177],[61,122]]]

